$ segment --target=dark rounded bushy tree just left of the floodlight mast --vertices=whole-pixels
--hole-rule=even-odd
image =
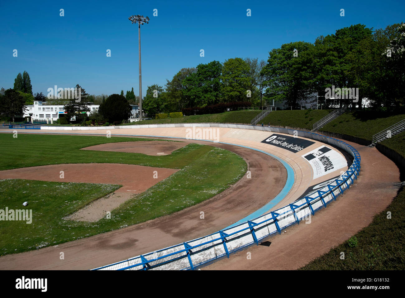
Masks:
[[[111,94],[105,102],[103,102],[99,109],[99,113],[109,120],[115,122],[128,120],[131,117],[131,106],[126,98],[119,94]]]

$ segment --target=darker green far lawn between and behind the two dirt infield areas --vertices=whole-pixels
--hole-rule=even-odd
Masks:
[[[125,141],[152,141],[134,137],[99,137],[83,135],[37,135],[0,134],[0,170],[61,163],[128,163],[150,167],[180,169],[210,150],[200,147],[185,147],[164,156],[150,156],[141,153],[80,150],[88,146]],[[166,140],[160,140],[166,141]],[[170,141],[170,140],[169,140]],[[189,150],[194,148],[195,150]]]

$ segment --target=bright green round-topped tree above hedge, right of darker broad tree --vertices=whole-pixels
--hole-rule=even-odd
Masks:
[[[222,96],[225,102],[246,101],[247,90],[252,88],[250,66],[241,58],[225,60],[222,69]]]

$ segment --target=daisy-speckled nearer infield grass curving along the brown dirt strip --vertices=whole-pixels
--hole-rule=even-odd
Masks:
[[[39,249],[171,214],[213,197],[247,171],[245,161],[233,152],[190,145],[173,152],[188,161],[180,171],[112,210],[111,219],[94,223],[63,218],[120,186],[0,180],[0,208],[32,209],[31,224],[1,222],[0,255]],[[22,206],[25,201],[29,202],[26,208]]]

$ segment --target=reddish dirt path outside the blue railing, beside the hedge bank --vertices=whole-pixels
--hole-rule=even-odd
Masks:
[[[369,225],[395,197],[398,187],[392,184],[399,181],[399,169],[376,148],[346,143],[361,156],[360,176],[349,191],[317,212],[310,224],[295,225],[269,238],[270,247],[249,247],[201,270],[295,270]],[[247,252],[252,259],[247,259]]]

